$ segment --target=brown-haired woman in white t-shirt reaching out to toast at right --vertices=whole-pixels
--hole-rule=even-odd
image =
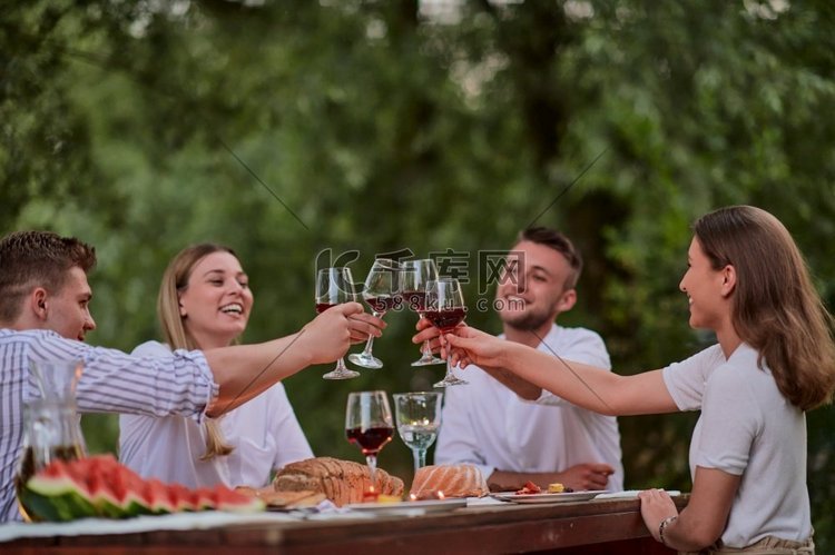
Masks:
[[[835,388],[832,316],[770,214],[728,207],[694,231],[679,288],[690,326],[715,331],[717,345],[619,376],[461,327],[448,338],[453,358],[488,367],[528,398],[544,388],[608,415],[701,410],[687,507],[679,514],[662,490],[639,495],[654,537],[680,552],[814,553],[805,413]]]

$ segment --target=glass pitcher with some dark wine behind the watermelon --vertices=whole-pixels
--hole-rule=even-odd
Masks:
[[[23,448],[14,486],[20,513],[26,511],[24,486],[52,460],[86,456],[80,420],[76,409],[76,385],[81,377],[78,360],[37,361],[30,365],[31,398],[23,406]]]

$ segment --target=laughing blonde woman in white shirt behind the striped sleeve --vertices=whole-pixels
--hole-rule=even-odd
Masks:
[[[246,329],[253,300],[232,249],[188,247],[171,259],[159,288],[165,344],[145,343],[134,355],[228,346]],[[271,470],[313,456],[281,383],[203,426],[176,416],[122,415],[119,428],[120,458],[127,466],[144,477],[188,487],[262,487]]]

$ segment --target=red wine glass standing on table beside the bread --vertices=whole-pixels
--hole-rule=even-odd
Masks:
[[[394,435],[394,420],[385,392],[354,392],[348,394],[345,409],[345,435],[358,446],[371,474],[372,493],[376,492],[377,453]]]

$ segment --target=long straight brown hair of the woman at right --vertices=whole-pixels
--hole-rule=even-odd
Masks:
[[[802,410],[828,403],[833,318],[788,230],[765,210],[733,206],[703,216],[695,232],[714,269],[736,270],[734,329],[759,351],[784,397]]]

